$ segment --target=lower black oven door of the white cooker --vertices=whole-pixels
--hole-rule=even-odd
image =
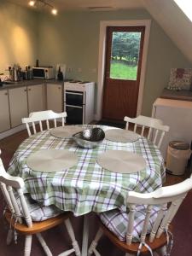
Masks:
[[[65,103],[64,107],[64,111],[67,112],[67,124],[84,125],[84,105],[80,107]]]

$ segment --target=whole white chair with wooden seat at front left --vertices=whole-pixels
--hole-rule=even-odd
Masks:
[[[24,181],[21,177],[10,176],[3,167],[0,159],[0,187],[3,192],[7,207],[4,213],[5,218],[9,222],[11,229],[7,237],[7,244],[10,243],[13,236],[13,230],[26,236],[24,255],[31,253],[32,235],[35,234],[38,241],[44,248],[46,255],[51,256],[52,253],[44,241],[40,232],[49,230],[56,225],[65,224],[68,235],[71,238],[73,248],[61,253],[67,256],[75,253],[80,256],[79,245],[75,240],[72,224],[69,220],[70,212],[61,212],[54,206],[43,207],[37,201],[33,201],[26,195],[23,195]],[[56,237],[53,237],[53,239]]]

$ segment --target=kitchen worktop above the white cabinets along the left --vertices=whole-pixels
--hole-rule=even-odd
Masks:
[[[9,82],[9,81],[8,81]],[[63,84],[65,81],[58,81],[55,79],[32,79],[32,80],[22,80],[18,82],[10,82],[10,84],[4,84],[0,86],[0,90],[12,89],[22,86],[31,86],[37,84]]]

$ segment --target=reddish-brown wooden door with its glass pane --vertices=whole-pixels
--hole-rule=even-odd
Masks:
[[[108,26],[102,119],[136,117],[144,26]]]

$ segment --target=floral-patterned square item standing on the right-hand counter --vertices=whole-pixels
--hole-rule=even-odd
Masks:
[[[192,84],[192,68],[171,68],[168,89],[190,90]]]

